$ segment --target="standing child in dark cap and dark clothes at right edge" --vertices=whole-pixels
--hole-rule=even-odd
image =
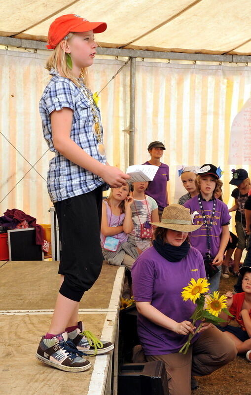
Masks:
[[[235,199],[235,205],[229,209],[229,212],[236,211],[235,214],[235,230],[238,237],[237,248],[234,253],[234,267],[233,271],[238,276],[242,252],[247,246],[247,239],[249,236],[245,232],[246,220],[244,213],[245,202],[248,199],[248,193],[251,189],[251,182],[248,172],[245,169],[232,170],[233,178],[229,182],[231,185],[237,186],[232,191],[231,196]]]

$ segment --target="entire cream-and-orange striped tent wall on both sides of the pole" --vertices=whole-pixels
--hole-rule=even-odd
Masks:
[[[38,53],[0,51],[0,213],[19,208],[38,223],[50,222],[51,205],[44,179],[52,154],[46,152],[38,113],[49,79],[45,59]],[[89,70],[93,91],[99,91],[121,64],[96,59]],[[108,162],[123,170],[129,151],[129,136],[123,131],[129,125],[129,74],[129,66],[124,67],[99,102]],[[177,201],[176,166],[220,165],[224,201],[232,205],[231,169],[245,167],[251,174],[249,166],[228,164],[230,127],[250,97],[251,67],[137,61],[136,76],[135,162],[149,158],[150,141],[165,142],[163,161],[170,165],[171,202]]]

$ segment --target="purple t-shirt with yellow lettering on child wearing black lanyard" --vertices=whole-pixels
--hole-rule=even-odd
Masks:
[[[202,200],[202,206],[206,215],[211,216],[212,211],[213,211],[213,205],[214,201],[213,200]],[[189,241],[190,244],[197,248],[202,256],[205,258],[206,253],[208,251],[208,244],[207,244],[207,229],[206,226],[204,225],[203,222],[203,216],[201,213],[199,201],[198,201],[198,196],[192,197],[190,200],[187,200],[184,203],[184,207],[187,207],[190,209],[191,214],[194,211],[198,211],[199,214],[196,214],[194,216],[193,223],[194,225],[201,225],[202,227],[197,229],[197,231],[190,232],[189,233]],[[215,207],[215,217],[213,221],[213,226],[210,229],[209,237],[210,237],[210,251],[211,255],[213,258],[218,253],[219,250],[219,245],[220,245],[220,235],[222,232],[222,226],[229,224],[231,217],[228,213],[228,207],[227,205],[219,200],[216,199],[216,207]]]

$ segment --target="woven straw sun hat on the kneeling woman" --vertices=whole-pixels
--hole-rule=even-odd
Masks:
[[[161,222],[150,222],[150,224],[178,232],[192,232],[201,227],[201,225],[193,225],[194,214],[198,214],[197,211],[191,215],[189,208],[181,204],[170,204],[164,208]]]

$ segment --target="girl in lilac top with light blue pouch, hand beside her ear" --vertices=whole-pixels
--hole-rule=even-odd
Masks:
[[[101,246],[105,260],[111,265],[131,267],[138,257],[133,230],[133,197],[129,196],[129,184],[111,188],[107,200],[103,200],[101,221]]]

